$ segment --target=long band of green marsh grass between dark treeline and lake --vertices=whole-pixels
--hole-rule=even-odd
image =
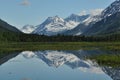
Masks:
[[[0,51],[80,49],[120,50],[120,42],[0,42]]]

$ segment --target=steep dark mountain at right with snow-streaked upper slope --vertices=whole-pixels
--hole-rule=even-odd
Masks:
[[[89,16],[83,23],[67,31],[68,35],[103,35],[119,33],[120,0],[116,0],[98,15]]]

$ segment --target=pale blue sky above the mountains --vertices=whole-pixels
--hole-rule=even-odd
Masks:
[[[0,0],[0,19],[21,28],[26,24],[39,25],[47,17],[89,13],[105,9],[115,0]]]

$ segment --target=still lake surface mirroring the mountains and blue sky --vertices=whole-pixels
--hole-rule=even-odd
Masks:
[[[85,59],[89,51],[23,51],[0,59],[0,80],[120,80],[120,69]],[[108,52],[109,54],[111,52]]]

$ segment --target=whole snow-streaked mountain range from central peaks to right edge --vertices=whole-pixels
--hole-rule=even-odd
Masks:
[[[72,14],[62,19],[49,17],[32,32],[39,35],[103,35],[119,33],[120,0],[114,1],[105,10],[97,10],[88,15]],[[97,13],[97,14],[96,14]]]

